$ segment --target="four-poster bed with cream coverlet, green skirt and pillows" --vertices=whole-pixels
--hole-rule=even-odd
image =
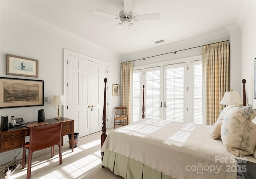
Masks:
[[[102,167],[108,167],[116,175],[141,179],[237,179],[236,157],[256,157],[255,137],[247,140],[246,144],[241,142],[250,135],[256,135],[256,124],[251,123],[256,117],[256,111],[245,103],[244,106],[228,105],[213,126],[163,119],[142,119],[111,131],[107,137],[106,78],[104,82]],[[245,80],[245,101],[244,84]],[[230,133],[241,136],[240,129],[232,125],[234,121],[231,118],[234,116],[244,123],[242,136],[245,138],[236,137],[230,141]],[[230,126],[233,127],[233,131],[237,130],[236,134],[233,134],[233,131],[228,133]],[[220,130],[220,127],[223,129]],[[250,132],[246,133],[246,130]],[[216,134],[222,139],[216,137]],[[240,140],[238,146],[233,140]]]

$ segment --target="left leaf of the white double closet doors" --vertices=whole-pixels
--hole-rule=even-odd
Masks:
[[[91,63],[68,55],[67,117],[74,119],[74,131],[79,137],[91,133]]]

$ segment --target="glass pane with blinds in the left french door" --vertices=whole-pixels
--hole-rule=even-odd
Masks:
[[[145,117],[160,119],[160,68],[145,72]]]

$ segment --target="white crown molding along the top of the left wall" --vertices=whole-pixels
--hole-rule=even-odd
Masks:
[[[90,42],[86,39],[83,39],[80,36],[72,34],[72,33],[68,32],[67,30],[64,30],[58,26],[55,26],[54,24],[46,22],[45,20],[42,20],[32,14],[29,14],[20,8],[16,8],[4,1],[1,2],[1,13],[11,16],[12,18],[16,18],[16,19],[18,19],[22,22],[25,22],[27,24],[30,24],[34,27],[51,32],[57,36],[60,36],[61,38],[66,38],[67,40],[76,42],[77,44],[85,46],[86,48],[92,49],[94,51],[104,53],[104,54],[110,55],[110,56],[120,57],[120,55],[118,55],[110,50],[107,50],[105,48],[102,48],[101,46],[93,44],[92,42]]]

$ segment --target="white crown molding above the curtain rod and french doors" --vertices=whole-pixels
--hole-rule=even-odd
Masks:
[[[126,62],[130,60],[143,59],[149,56],[155,56],[155,55],[164,54],[168,52],[175,52],[178,50],[193,48],[193,47],[211,44],[211,43],[215,43],[223,40],[230,40],[230,33],[226,29],[212,32],[210,34],[174,42],[172,44],[167,44],[164,46],[143,50],[133,54],[124,55],[124,56],[121,56],[122,58],[121,61]],[[145,56],[145,54],[147,54],[147,56]]]

